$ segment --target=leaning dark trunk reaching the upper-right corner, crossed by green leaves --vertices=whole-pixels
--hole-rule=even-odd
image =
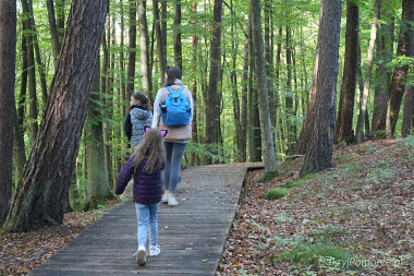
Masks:
[[[402,1],[402,15],[401,15],[401,31],[399,35],[399,43],[397,48],[397,56],[410,56],[410,36],[413,35],[414,21],[414,1]],[[387,133],[393,135],[395,131],[397,120],[400,112],[401,100],[404,93],[404,80],[409,72],[409,63],[398,65],[394,69],[391,82],[390,99],[387,111]]]

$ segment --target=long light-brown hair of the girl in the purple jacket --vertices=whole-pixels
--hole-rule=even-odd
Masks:
[[[163,136],[157,129],[151,129],[145,132],[143,140],[136,147],[134,159],[135,171],[146,155],[148,155],[148,159],[143,170],[148,173],[154,172],[159,166],[166,164]]]

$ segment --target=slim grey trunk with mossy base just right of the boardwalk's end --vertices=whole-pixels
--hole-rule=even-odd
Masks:
[[[275,141],[270,122],[269,97],[264,57],[264,41],[261,35],[260,0],[251,0],[251,9],[261,130],[261,154],[265,164],[265,179],[272,179],[278,175],[278,169],[276,166]]]

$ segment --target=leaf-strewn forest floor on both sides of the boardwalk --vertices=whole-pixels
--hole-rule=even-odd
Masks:
[[[334,168],[299,178],[302,159],[260,183],[249,172],[217,275],[412,275],[414,137],[336,148]],[[264,200],[269,190],[284,195]],[[26,275],[109,208],[1,233],[0,275]]]

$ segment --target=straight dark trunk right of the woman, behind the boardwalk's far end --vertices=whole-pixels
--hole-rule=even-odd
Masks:
[[[210,76],[208,81],[207,91],[207,112],[206,112],[206,140],[205,143],[210,145],[215,143],[216,136],[216,121],[218,118],[217,108],[217,82],[219,76],[219,64],[220,64],[220,45],[221,45],[221,11],[222,11],[223,0],[215,0],[214,8],[214,25],[212,25],[212,37],[211,37],[211,56],[210,56]],[[212,164],[211,157],[205,158],[205,164]]]

